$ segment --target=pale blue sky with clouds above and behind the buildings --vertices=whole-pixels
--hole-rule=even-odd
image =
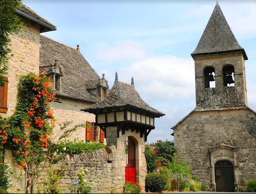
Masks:
[[[150,106],[166,116],[155,119],[148,142],[173,140],[170,129],[196,106],[195,50],[216,0],[23,0],[57,26],[43,33],[80,52],[112,87],[131,82]],[[256,1],[219,0],[238,43],[245,49],[248,102],[256,110]]]

